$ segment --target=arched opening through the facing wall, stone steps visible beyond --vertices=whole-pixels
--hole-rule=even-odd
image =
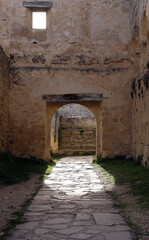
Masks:
[[[94,155],[96,153],[96,119],[81,104],[65,104],[51,121],[52,153]]]

